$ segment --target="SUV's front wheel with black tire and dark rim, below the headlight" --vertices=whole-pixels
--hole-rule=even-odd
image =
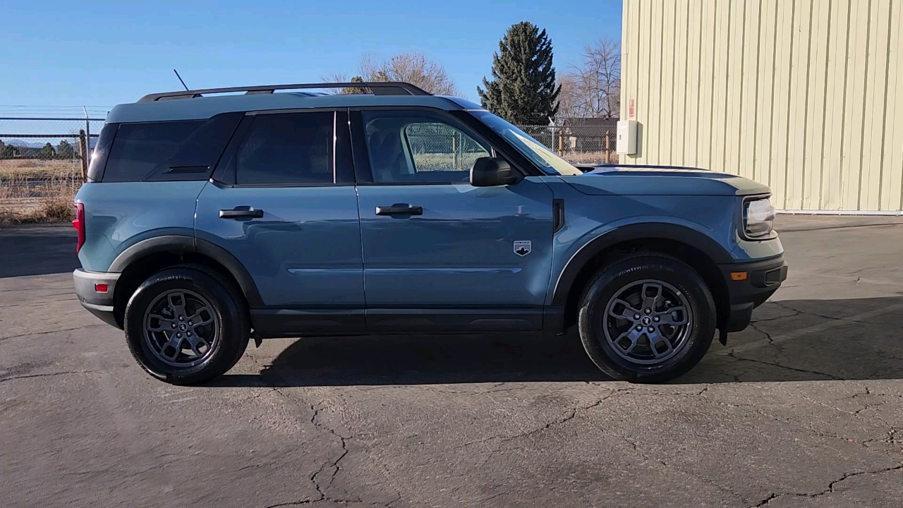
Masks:
[[[715,304],[703,278],[682,261],[647,253],[600,269],[583,291],[583,347],[620,381],[674,379],[712,345]]]

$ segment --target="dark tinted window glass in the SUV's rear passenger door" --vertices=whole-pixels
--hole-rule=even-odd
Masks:
[[[333,183],[331,112],[257,115],[238,146],[239,185]]]

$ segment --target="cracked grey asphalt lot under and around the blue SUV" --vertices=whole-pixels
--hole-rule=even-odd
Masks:
[[[790,276],[666,385],[576,337],[253,344],[154,381],[83,310],[69,227],[0,230],[0,505],[900,506],[903,220],[778,220]]]

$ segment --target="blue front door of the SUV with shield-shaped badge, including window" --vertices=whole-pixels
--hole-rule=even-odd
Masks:
[[[542,326],[552,265],[552,191],[527,177],[474,187],[492,147],[432,110],[352,113],[370,331]],[[362,182],[359,173],[366,167]]]

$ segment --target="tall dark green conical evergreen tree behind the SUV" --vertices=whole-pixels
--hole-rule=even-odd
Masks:
[[[483,108],[514,124],[548,125],[558,112],[552,42],[529,22],[511,25],[492,55],[492,80],[477,87]]]

